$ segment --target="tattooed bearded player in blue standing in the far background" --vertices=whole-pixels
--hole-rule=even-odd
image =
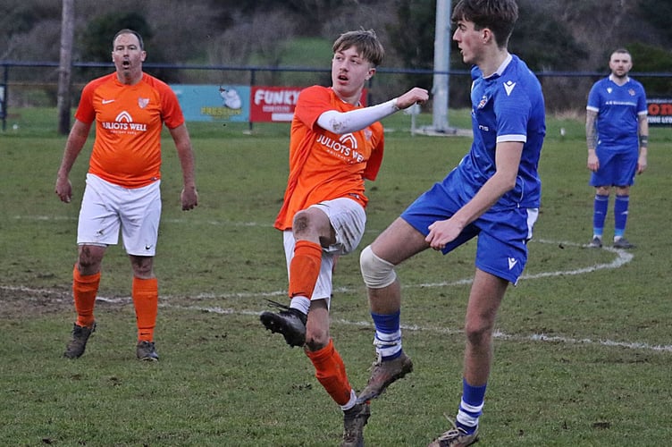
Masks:
[[[614,248],[632,249],[626,238],[630,187],[634,174],[646,169],[649,149],[646,93],[642,84],[627,73],[633,68],[630,53],[617,49],[609,58],[609,77],[598,80],[588,94],[585,139],[588,144],[590,185],[595,187],[592,213],[592,240],[588,247],[602,246],[604,221],[611,187],[614,201]]]

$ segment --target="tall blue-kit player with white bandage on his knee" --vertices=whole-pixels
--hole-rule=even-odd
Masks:
[[[508,283],[517,283],[523,273],[526,242],[540,207],[537,166],[546,133],[545,108],[539,81],[523,61],[508,53],[517,17],[514,0],[456,4],[453,40],[463,61],[474,65],[471,150],[360,257],[378,354],[358,397],[369,401],[413,369],[401,346],[401,293],[394,267],[424,249],[447,254],[478,238],[466,308],[462,399],[454,426],[431,444],[435,446],[469,445],[477,439],[497,311]]]

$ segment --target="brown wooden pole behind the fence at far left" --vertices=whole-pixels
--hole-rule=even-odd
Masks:
[[[70,90],[72,70],[72,41],[75,34],[74,0],[63,0],[61,13],[61,55],[58,68],[58,132],[70,132]]]

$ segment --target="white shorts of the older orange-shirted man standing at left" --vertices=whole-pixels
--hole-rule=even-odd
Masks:
[[[153,257],[161,220],[161,181],[123,188],[87,174],[77,225],[78,245],[116,245],[119,230],[126,253]]]

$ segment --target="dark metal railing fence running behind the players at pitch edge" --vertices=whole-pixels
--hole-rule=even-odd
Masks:
[[[329,67],[261,67],[145,63],[145,71],[171,84],[245,84],[249,86],[308,86],[331,83]],[[12,107],[55,106],[58,89],[57,62],[0,61],[0,118]],[[76,105],[83,86],[97,76],[113,71],[111,63],[73,63],[71,104]],[[412,86],[431,89],[434,74],[448,74],[449,107],[469,106],[469,71],[412,70],[380,67],[370,84],[369,104],[375,104]],[[606,72],[537,72],[542,82],[547,109],[551,112],[585,108],[592,83]],[[672,73],[633,72],[648,96],[672,97]],[[431,104],[430,104],[431,106]]]

